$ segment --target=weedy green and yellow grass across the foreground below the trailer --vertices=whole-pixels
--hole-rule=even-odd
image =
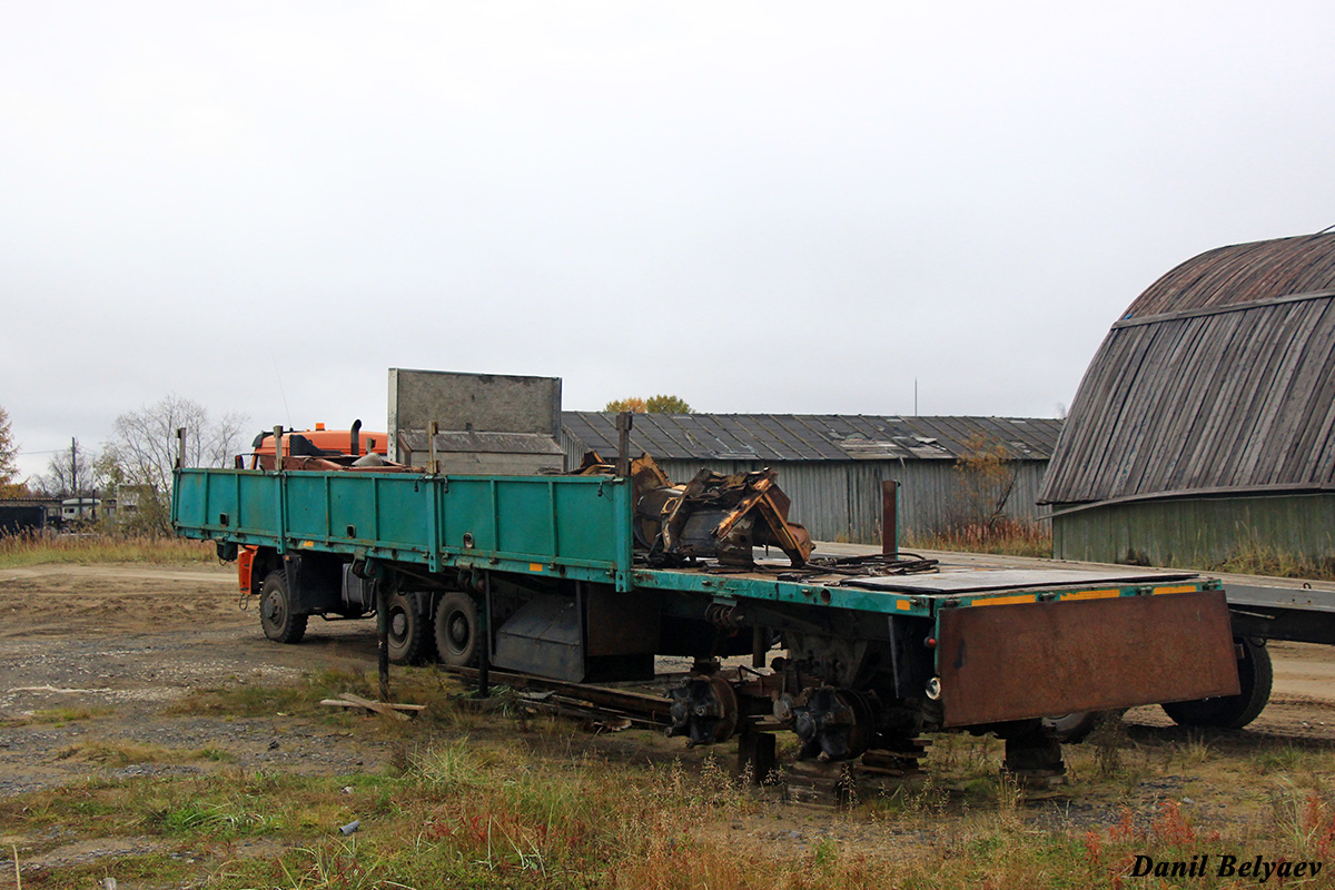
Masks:
[[[318,709],[320,697],[372,691],[367,681],[312,674],[287,691],[240,685],[211,702],[259,707],[263,697],[278,697],[266,714],[276,702]],[[56,869],[40,881],[25,874],[24,886],[92,886],[113,875],[127,885],[219,890],[1073,890],[1135,886],[1136,855],[1335,858],[1335,771],[1326,749],[1258,742],[1239,754],[1214,738],[1137,733],[1132,741],[1100,727],[1093,745],[1068,749],[1071,785],[1031,794],[999,773],[997,739],[939,735],[925,779],[865,794],[849,810],[824,810],[738,785],[732,746],[589,737],[566,722],[525,730],[518,715],[502,713],[467,711],[466,723],[451,722],[451,713],[465,711],[433,693],[443,683],[430,670],[396,677],[395,698],[431,705],[411,723],[320,709],[328,721],[359,721],[368,743],[402,749],[384,771],[323,777],[228,766],[0,799],[0,825],[20,833],[16,846],[29,861],[39,847],[52,849],[44,838],[55,829],[65,833],[60,843],[75,833],[160,845],[162,853]],[[100,751],[135,762],[191,754]],[[85,747],[80,757],[95,754]],[[354,821],[356,833],[338,831]],[[1191,886],[1228,885],[1207,875]]]

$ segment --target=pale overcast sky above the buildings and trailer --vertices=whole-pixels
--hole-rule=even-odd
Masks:
[[[1331,3],[0,5],[27,472],[168,392],[362,418],[1053,416],[1222,244],[1335,224]]]

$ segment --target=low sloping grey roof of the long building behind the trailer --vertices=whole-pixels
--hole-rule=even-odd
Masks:
[[[605,458],[617,415],[563,411],[566,432]],[[1052,418],[898,418],[848,414],[637,414],[631,448],[659,460],[953,460],[983,434],[1019,460],[1047,460]]]

